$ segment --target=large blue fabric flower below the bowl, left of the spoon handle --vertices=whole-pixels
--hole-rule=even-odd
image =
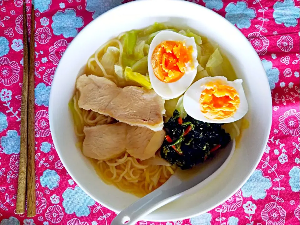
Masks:
[[[63,207],[68,214],[75,212],[76,216],[88,216],[91,212],[89,206],[93,204],[95,201],[78,186],[74,189],[68,187],[63,192]]]

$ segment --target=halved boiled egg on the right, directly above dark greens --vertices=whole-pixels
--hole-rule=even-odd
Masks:
[[[183,107],[192,118],[206,123],[231,123],[248,111],[242,79],[205,77],[193,83],[184,94]]]

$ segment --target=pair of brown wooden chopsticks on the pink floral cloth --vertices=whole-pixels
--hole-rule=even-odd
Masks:
[[[31,37],[28,49],[26,3],[23,3],[24,68],[21,103],[20,163],[16,214],[25,213],[27,189],[27,217],[35,216],[35,140],[34,140],[34,6],[31,9]],[[29,55],[29,59],[28,59]],[[27,188],[26,188],[27,185]]]

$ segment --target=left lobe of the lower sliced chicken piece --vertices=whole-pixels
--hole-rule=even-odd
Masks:
[[[126,152],[126,123],[113,123],[84,127],[83,154],[87,157],[108,160]]]

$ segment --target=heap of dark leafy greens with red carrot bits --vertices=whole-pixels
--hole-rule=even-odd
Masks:
[[[164,140],[161,156],[172,165],[181,169],[192,168],[205,161],[210,151],[225,147],[230,142],[230,134],[225,133],[222,124],[204,123],[190,116],[183,118],[181,123],[178,118],[180,111],[175,110],[164,124],[166,135],[172,142]]]

